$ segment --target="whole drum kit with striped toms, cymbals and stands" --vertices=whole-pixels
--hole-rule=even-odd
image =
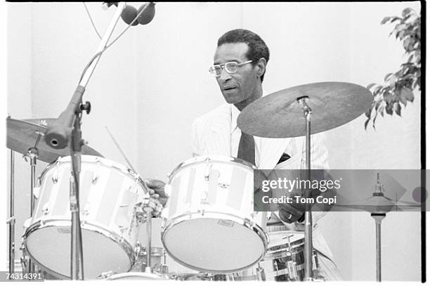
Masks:
[[[356,84],[307,84],[255,100],[237,122],[240,129],[255,136],[306,136],[309,146],[311,134],[358,117],[371,99],[370,91]],[[304,124],[297,120],[300,115]],[[311,115],[316,118],[312,131]],[[22,268],[44,273],[47,279],[71,279],[72,253],[66,250],[76,239],[71,235],[71,147],[56,149],[41,140],[53,122],[55,119],[8,118],[7,147],[11,154],[20,152],[30,158],[32,167],[32,202],[22,235]],[[306,151],[310,169],[309,148]],[[80,260],[86,280],[298,281],[318,277],[318,256],[311,245],[311,212],[306,212],[304,233],[268,233],[266,212],[254,212],[256,167],[252,164],[221,155],[186,160],[171,171],[164,187],[169,200],[163,206],[150,195],[146,181],[133,167],[108,160],[86,145],[81,153]],[[51,164],[36,180],[37,160]],[[13,160],[8,220],[11,240],[15,231],[12,164]],[[162,218],[162,248],[151,247],[154,217]],[[143,224],[147,228],[145,247],[138,241]],[[12,262],[13,251],[10,247]],[[198,273],[169,272],[167,255]]]

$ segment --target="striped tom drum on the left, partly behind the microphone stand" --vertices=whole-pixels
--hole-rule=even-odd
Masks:
[[[70,278],[70,156],[50,164],[23,236],[27,253],[48,273]],[[131,269],[140,222],[135,205],[148,193],[138,174],[105,158],[82,155],[80,219],[84,278]]]

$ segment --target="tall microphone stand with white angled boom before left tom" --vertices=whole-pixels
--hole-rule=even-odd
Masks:
[[[93,71],[98,64],[98,60],[100,60],[101,52],[105,49],[107,45],[107,41],[109,41],[110,36],[112,35],[115,26],[119,18],[121,18],[121,13],[124,10],[125,3],[120,2],[118,4],[117,10],[115,11],[115,15],[110,21],[109,26],[103,38],[100,41],[100,45],[98,46],[97,53],[98,56],[93,60],[91,65],[89,65],[85,74],[83,75],[79,85],[77,86],[76,91],[70,101],[71,104],[74,104],[74,124],[72,129],[72,148],[70,152],[71,160],[72,160],[72,178],[70,181],[70,212],[72,214],[71,220],[71,243],[70,243],[70,251],[71,251],[71,260],[70,260],[70,272],[72,280],[84,280],[84,256],[82,251],[82,230],[81,223],[79,217],[79,174],[81,171],[81,151],[82,145],[84,144],[82,141],[82,111],[86,111],[86,114],[89,114],[91,111],[91,104],[87,101],[85,104],[82,104],[82,96],[84,95],[86,85],[89,82]],[[79,277],[79,273],[81,276]]]

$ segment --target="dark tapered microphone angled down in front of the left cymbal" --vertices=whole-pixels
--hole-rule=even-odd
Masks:
[[[84,91],[84,86],[78,86],[67,108],[61,112],[55,123],[46,128],[44,139],[52,148],[64,149],[69,145],[74,115],[80,108]]]

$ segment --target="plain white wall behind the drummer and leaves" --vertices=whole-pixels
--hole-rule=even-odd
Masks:
[[[113,9],[88,6],[103,33]],[[84,138],[105,157],[126,165],[105,131],[108,126],[144,177],[165,180],[190,157],[193,118],[223,103],[207,72],[223,32],[243,27],[266,41],[271,60],[264,89],[269,93],[323,81],[367,86],[382,82],[404,60],[400,43],[379,23],[408,6],[419,11],[418,2],[159,3],[149,25],[131,27],[103,54],[84,95],[93,105],[91,114],[84,115]],[[84,6],[8,3],[8,15],[8,112],[18,119],[57,117],[98,46]],[[124,27],[119,22],[115,35]],[[419,110],[417,93],[403,118],[379,118],[376,131],[363,129],[364,115],[327,131],[332,169],[419,168]],[[15,170],[18,237],[28,216],[30,186],[30,168],[20,157],[16,155]],[[45,166],[39,163],[38,172]],[[392,213],[384,219],[384,280],[419,280],[419,223],[417,213]],[[157,226],[159,221],[155,230]],[[320,226],[344,278],[374,280],[370,216],[330,213]],[[153,245],[161,246],[159,233]],[[183,270],[171,261],[169,266]]]

